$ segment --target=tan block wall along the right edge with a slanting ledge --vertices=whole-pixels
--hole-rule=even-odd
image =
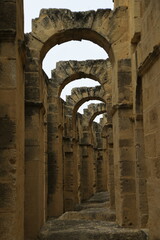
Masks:
[[[136,45],[132,44],[132,76],[134,77],[135,112],[137,112],[136,107],[138,105],[140,117],[143,115],[143,119],[139,118],[138,120],[139,139],[141,138],[140,154],[142,159],[139,184],[141,191],[140,211],[141,219],[145,214],[145,221],[146,223],[148,222],[147,226],[150,230],[151,239],[159,239],[160,2],[156,0],[142,0],[139,4],[140,38],[136,41]],[[135,89],[138,89],[138,93]],[[143,142],[145,154],[142,152]],[[142,223],[144,224],[144,221]]]

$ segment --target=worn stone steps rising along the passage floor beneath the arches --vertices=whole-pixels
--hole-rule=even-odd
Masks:
[[[91,199],[66,212],[58,219],[49,219],[38,240],[147,240],[143,230],[122,228],[115,222],[115,212],[109,209],[107,193],[97,193]]]

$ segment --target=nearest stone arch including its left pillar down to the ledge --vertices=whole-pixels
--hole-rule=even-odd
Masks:
[[[32,32],[25,36],[26,100],[43,99],[41,63],[49,49],[56,44],[70,40],[90,40],[106,50],[114,65],[115,59],[122,55],[117,43],[126,41],[128,25],[124,23],[127,14],[127,8],[124,7],[116,11],[99,9],[87,12],[42,9],[40,16],[32,21]],[[126,55],[126,52],[123,50],[123,55]]]

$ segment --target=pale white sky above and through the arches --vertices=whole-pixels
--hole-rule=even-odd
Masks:
[[[31,32],[31,19],[38,17],[42,8],[67,8],[72,11],[97,10],[98,8],[113,9],[113,2],[112,0],[24,0],[25,32]],[[55,46],[47,53],[43,61],[43,69],[50,77],[51,70],[56,67],[56,62],[58,61],[106,59],[107,57],[104,49],[90,41],[70,41]],[[86,87],[97,85],[89,79],[85,79],[85,81],[86,80]],[[61,97],[65,100],[65,95],[70,94],[71,88],[80,86],[84,86],[84,79],[72,82],[72,84],[65,88]],[[83,113],[83,109],[86,108],[87,105],[88,102],[84,103],[78,111]]]

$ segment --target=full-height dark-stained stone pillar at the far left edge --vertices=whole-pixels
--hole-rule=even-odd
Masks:
[[[24,238],[23,2],[0,1],[0,238]]]

